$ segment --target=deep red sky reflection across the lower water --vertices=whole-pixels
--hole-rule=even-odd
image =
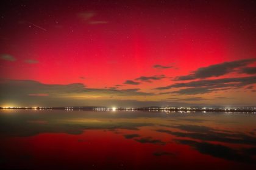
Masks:
[[[118,133],[116,133],[118,132]],[[159,139],[165,145],[139,143],[124,138],[124,134]],[[138,138],[141,138],[138,137]],[[5,168],[32,169],[235,169],[249,168],[197,152],[190,146],[177,144],[171,135],[150,131],[88,130],[80,135],[39,134],[32,137],[12,137],[0,141],[2,154],[8,161]],[[155,156],[154,152],[174,155]],[[1,154],[1,155],[2,155]]]

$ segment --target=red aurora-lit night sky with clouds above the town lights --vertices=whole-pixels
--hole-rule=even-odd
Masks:
[[[1,1],[0,106],[253,106],[256,1]]]

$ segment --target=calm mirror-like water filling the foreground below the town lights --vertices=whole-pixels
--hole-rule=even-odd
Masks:
[[[256,115],[0,110],[1,169],[255,169]]]

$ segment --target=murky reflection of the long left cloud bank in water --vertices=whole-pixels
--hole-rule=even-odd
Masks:
[[[129,129],[138,131],[140,127],[153,126],[152,123],[140,123],[129,121],[44,121],[34,120],[12,120],[10,122],[0,120],[1,136],[32,136],[40,133],[67,133],[67,134],[82,134],[88,129],[102,129],[113,131],[115,129]],[[45,121],[47,122],[47,121]],[[13,126],[15,124],[15,126]],[[22,130],[21,130],[22,129]]]

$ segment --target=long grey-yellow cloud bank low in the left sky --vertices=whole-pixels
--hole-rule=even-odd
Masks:
[[[73,84],[43,84],[32,80],[1,80],[1,101],[13,98],[13,100],[31,100],[31,97],[49,97],[69,99],[88,97],[130,97],[154,95],[141,92],[141,89],[92,89],[85,87],[82,83]]]

